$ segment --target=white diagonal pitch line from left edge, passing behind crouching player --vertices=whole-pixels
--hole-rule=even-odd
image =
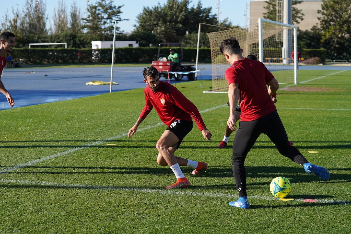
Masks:
[[[207,112],[207,111],[212,111],[214,109],[217,109],[217,108],[220,108],[220,107],[224,107],[224,106],[227,106],[227,105],[220,105],[220,106],[215,106],[215,107],[212,107],[212,108],[209,108],[209,109],[206,109],[204,111],[200,111],[200,113],[204,113],[204,112]],[[144,130],[147,130],[147,129],[150,129],[150,128],[154,128],[154,127],[158,127],[160,125],[163,125],[162,122],[156,124],[156,125],[152,125],[152,126],[148,126],[148,127],[145,127],[145,128],[141,128],[139,129],[138,131],[144,131]],[[41,161],[44,161],[44,160],[47,160],[47,159],[52,159],[52,158],[56,158],[58,156],[62,156],[62,155],[65,155],[65,154],[69,154],[71,152],[74,152],[74,151],[79,151],[81,149],[84,149],[84,148],[89,148],[91,146],[95,146],[95,145],[99,145],[101,143],[104,143],[106,141],[111,141],[111,140],[114,140],[114,139],[118,139],[118,138],[121,138],[123,136],[127,136],[128,133],[123,133],[121,135],[117,135],[117,136],[113,136],[111,138],[107,138],[105,140],[101,140],[101,141],[95,141],[95,142],[92,142],[90,144],[87,144],[87,145],[84,145],[84,146],[81,146],[81,147],[77,147],[77,148],[73,148],[73,149],[68,149],[67,151],[63,151],[63,152],[59,152],[59,153],[56,153],[56,154],[52,154],[52,155],[49,155],[49,156],[46,156],[44,158],[40,158],[40,159],[35,159],[33,161],[30,161],[30,162],[25,162],[25,163],[22,163],[20,165],[17,165],[17,166],[14,166],[14,167],[7,167],[5,169],[2,169],[0,170],[0,175],[1,174],[4,174],[4,173],[7,173],[7,172],[11,172],[11,171],[14,171],[18,168],[21,168],[21,167],[26,167],[26,166],[29,166],[29,165],[33,165],[37,162],[41,162]]]

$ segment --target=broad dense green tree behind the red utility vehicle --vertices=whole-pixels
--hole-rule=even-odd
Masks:
[[[138,17],[135,31],[147,31],[157,35],[162,42],[179,42],[188,32],[197,32],[199,23],[219,25],[216,14],[211,14],[211,7],[203,8],[199,1],[196,6],[189,6],[190,0],[167,0],[153,7],[144,7]],[[228,21],[225,27],[232,27]],[[217,28],[201,26],[202,32],[217,31]]]

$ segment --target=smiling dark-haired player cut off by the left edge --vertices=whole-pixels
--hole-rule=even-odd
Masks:
[[[0,92],[6,96],[6,99],[11,107],[15,105],[11,94],[7,91],[1,81],[2,69],[6,66],[6,53],[11,53],[12,48],[15,46],[15,35],[10,32],[4,32],[0,35]]]

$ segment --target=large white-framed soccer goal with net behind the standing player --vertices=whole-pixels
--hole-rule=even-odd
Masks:
[[[207,33],[210,39],[212,57],[212,90],[227,92],[225,70],[230,64],[220,52],[220,44],[230,37],[237,38],[243,49],[243,56],[256,55],[279,83],[297,83],[297,26],[259,18],[258,22],[245,27]]]

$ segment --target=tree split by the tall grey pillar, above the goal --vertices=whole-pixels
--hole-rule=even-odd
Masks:
[[[302,1],[297,1],[297,0],[292,0],[291,5],[297,5],[300,4]],[[266,1],[267,5],[264,6],[267,11],[263,13],[263,17],[267,20],[273,20],[277,21],[277,0],[268,0]],[[300,21],[304,20],[303,16],[305,15],[302,13],[301,9],[298,9],[297,7],[291,7],[292,11],[292,24],[298,24]]]

